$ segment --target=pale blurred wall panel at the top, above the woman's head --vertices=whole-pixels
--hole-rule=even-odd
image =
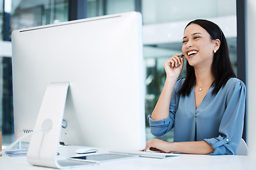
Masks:
[[[142,0],[144,24],[192,21],[235,14],[236,0]]]

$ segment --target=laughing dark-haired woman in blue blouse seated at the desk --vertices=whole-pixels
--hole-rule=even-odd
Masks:
[[[151,133],[174,128],[174,142],[150,140],[146,149],[186,154],[236,154],[245,114],[245,84],[235,78],[220,28],[196,20],[184,30],[183,54],[164,64],[166,81],[154,111]],[[186,79],[178,79],[186,57]]]

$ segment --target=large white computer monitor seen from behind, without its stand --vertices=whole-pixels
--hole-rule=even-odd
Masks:
[[[14,30],[12,50],[16,138],[33,131],[48,84],[69,82],[60,142],[145,147],[140,13]]]

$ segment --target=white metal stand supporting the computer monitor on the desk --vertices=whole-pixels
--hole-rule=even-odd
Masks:
[[[51,83],[47,86],[28,147],[27,160],[29,164],[57,169],[96,164],[92,162],[57,160],[60,128],[68,87],[68,82]]]

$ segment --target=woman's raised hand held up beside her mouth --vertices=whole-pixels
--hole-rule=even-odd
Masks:
[[[174,55],[164,63],[166,78],[170,77],[170,78],[178,79],[178,76],[179,74],[181,74],[181,71],[183,69],[183,64],[184,64],[184,59],[182,55],[183,55],[182,53]]]

